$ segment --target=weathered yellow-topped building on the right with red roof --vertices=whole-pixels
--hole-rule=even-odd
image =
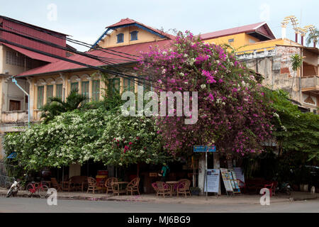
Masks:
[[[216,45],[230,45],[240,61],[264,77],[270,89],[284,89],[303,111],[318,113],[318,48],[307,48],[286,38],[276,39],[267,23],[254,23],[201,35],[201,40]],[[303,35],[303,34],[301,34]],[[301,38],[303,43],[303,37]],[[229,50],[229,49],[228,49]],[[291,67],[291,55],[303,57],[296,72]]]

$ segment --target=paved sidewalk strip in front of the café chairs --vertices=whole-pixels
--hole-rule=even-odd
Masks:
[[[0,188],[0,196],[6,196],[7,189]],[[28,197],[26,191],[19,191],[18,196]],[[38,197],[35,194],[33,197]],[[152,202],[152,203],[167,203],[167,204],[259,204],[260,195],[253,194],[235,194],[235,196],[173,196],[173,197],[157,197],[155,194],[142,194],[141,196],[113,196],[113,194],[91,194],[86,192],[58,192],[57,199],[79,199],[92,201],[133,201],[133,202]],[[276,195],[270,199],[271,203],[289,202],[306,199],[318,199],[319,194],[310,194],[307,192],[293,192],[291,196]]]

